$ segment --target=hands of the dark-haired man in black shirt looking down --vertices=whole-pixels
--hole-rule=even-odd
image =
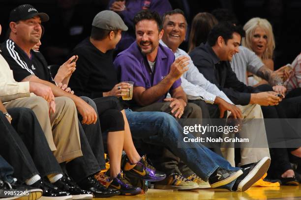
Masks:
[[[251,94],[250,104],[259,104],[261,106],[278,105],[281,98],[276,96],[277,93],[273,91],[260,92]]]

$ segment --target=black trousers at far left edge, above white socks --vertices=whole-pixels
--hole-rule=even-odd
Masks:
[[[0,154],[13,166],[14,176],[25,181],[35,174],[61,173],[34,113],[27,108],[8,109],[8,113],[11,125],[0,112]]]

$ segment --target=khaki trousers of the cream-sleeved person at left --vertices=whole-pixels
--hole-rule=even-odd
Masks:
[[[4,104],[6,109],[26,107],[36,115],[49,147],[59,163],[82,156],[77,111],[68,97],[56,97],[56,113],[49,115],[49,105],[42,97],[19,98]]]

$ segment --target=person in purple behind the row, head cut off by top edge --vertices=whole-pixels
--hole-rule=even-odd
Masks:
[[[133,19],[139,11],[156,11],[163,16],[165,12],[172,10],[172,7],[168,0],[110,0],[109,9],[117,12],[128,27],[127,31],[122,32],[121,40],[116,47],[116,51],[120,52],[135,41]]]

